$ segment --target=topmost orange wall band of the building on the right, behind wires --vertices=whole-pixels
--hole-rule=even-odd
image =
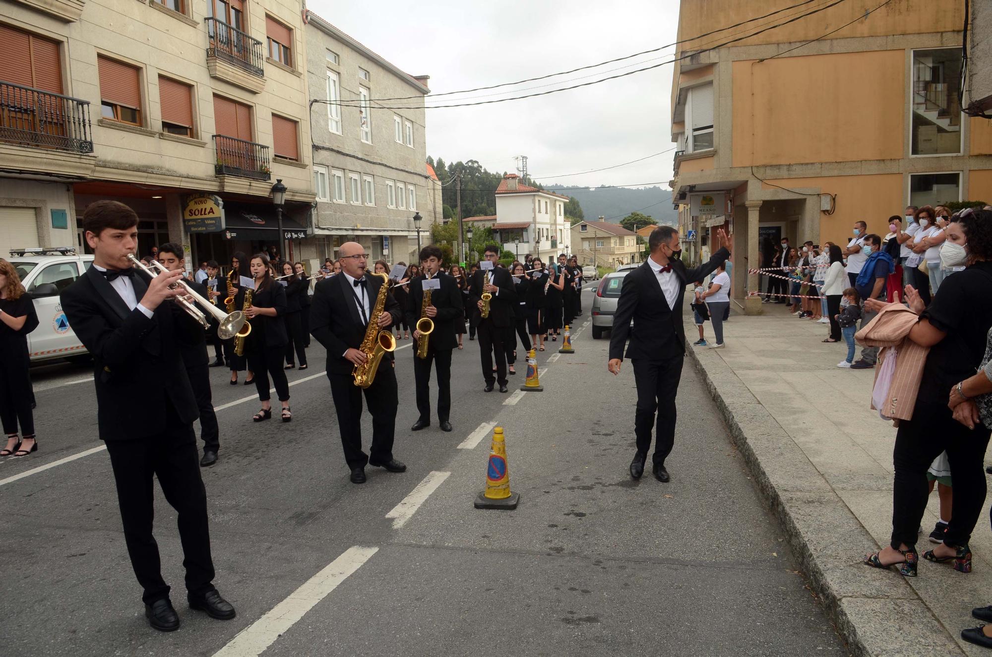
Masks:
[[[763,16],[796,4],[796,0],[682,0],[679,9],[679,39],[706,34],[720,28]],[[756,46],[808,41],[823,36],[828,29],[844,25],[863,16],[866,11],[881,4],[869,0],[843,2],[789,25],[768,30],[760,35],[733,44]],[[735,39],[738,32],[750,34],[776,23],[805,14],[819,3],[806,5],[762,21],[748,23],[742,28],[710,35],[684,43],[680,51],[712,48]],[[829,39],[851,37],[878,37],[893,34],[925,34],[930,32],[957,32],[964,24],[964,3],[951,0],[895,0],[872,13],[866,20],[856,21],[832,34]]]

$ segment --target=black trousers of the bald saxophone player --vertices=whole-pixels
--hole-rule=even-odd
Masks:
[[[396,434],[396,409],[399,406],[392,361],[380,364],[375,380],[368,388],[356,386],[351,374],[327,372],[327,378],[330,380],[330,395],[337,411],[337,427],[348,469],[365,467],[370,459],[377,463],[391,460]],[[372,446],[368,456],[362,451],[362,392],[372,415]]]

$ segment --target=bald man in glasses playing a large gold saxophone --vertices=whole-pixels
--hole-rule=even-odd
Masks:
[[[360,348],[373,318],[373,310],[385,283],[382,277],[366,276],[369,255],[358,242],[345,242],[338,248],[341,274],[316,284],[310,303],[310,333],[327,349],[327,378],[337,412],[344,460],[351,470],[352,483],[365,482],[365,465],[385,467],[390,472],[407,469],[393,458],[396,410],[399,404],[393,353],[380,361],[372,384],[364,388],[365,402],[372,416],[372,446],[362,451],[362,391],[355,385],[352,370],[363,365],[368,355]],[[387,296],[379,316],[379,328],[388,329],[400,317],[400,305]]]

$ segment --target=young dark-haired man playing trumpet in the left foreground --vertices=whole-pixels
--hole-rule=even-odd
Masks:
[[[196,400],[180,354],[181,338],[203,328],[168,300],[181,272],[148,281],[127,256],[138,246],[138,215],[114,200],[91,203],[82,217],[93,264],[62,291],[69,324],[93,357],[97,421],[117,484],[131,565],[144,589],[152,627],[178,629],[152,535],[156,478],[179,513],[189,606],[230,619],[234,607],[211,584],[214,572],[206,491],[196,466]],[[164,303],[165,302],[165,303]]]

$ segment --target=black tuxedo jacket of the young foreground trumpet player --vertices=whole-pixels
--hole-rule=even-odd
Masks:
[[[141,276],[133,279],[139,303],[148,290]],[[203,327],[177,304],[161,304],[152,319],[137,308],[129,311],[94,267],[62,291],[61,301],[69,325],[93,356],[102,440],[161,434],[169,402],[182,422],[199,417],[179,341],[195,341]]]

